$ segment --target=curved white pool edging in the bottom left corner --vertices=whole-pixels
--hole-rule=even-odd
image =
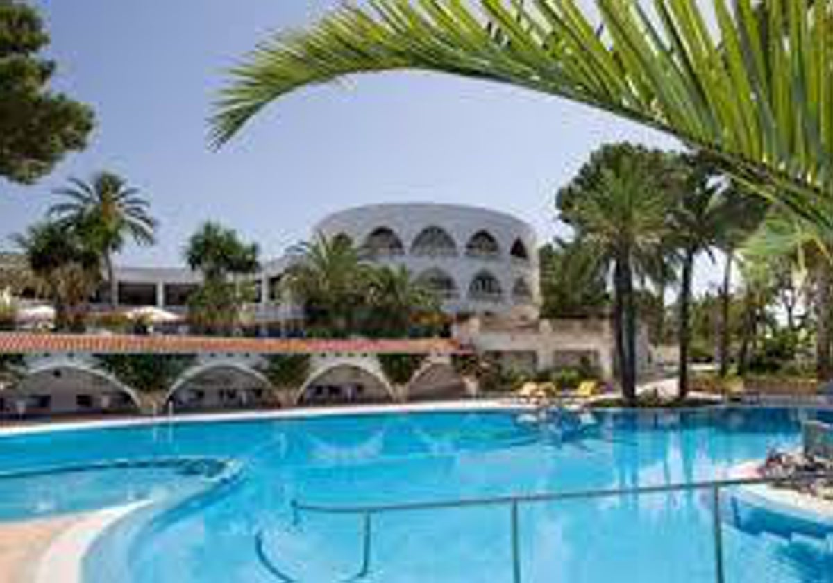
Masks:
[[[83,583],[84,557],[93,543],[107,528],[143,506],[147,506],[147,502],[93,512],[67,528],[52,541],[37,562],[32,583]]]

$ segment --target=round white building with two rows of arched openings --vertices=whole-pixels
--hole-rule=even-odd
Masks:
[[[479,207],[412,203],[350,208],[315,227],[347,237],[372,262],[406,267],[454,314],[538,316],[535,231]]]

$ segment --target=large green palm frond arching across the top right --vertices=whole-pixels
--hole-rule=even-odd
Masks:
[[[830,2],[376,0],[258,45],[222,92],[217,146],[269,103],[418,69],[584,103],[711,152],[737,181],[833,227]],[[597,15],[597,16],[596,16]],[[715,22],[710,26],[707,22]]]

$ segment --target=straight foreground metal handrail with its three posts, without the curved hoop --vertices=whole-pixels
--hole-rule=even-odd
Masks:
[[[723,557],[723,531],[721,524],[721,490],[737,486],[775,486],[790,483],[802,483],[821,479],[833,479],[833,472],[801,472],[794,476],[750,477],[728,480],[695,481],[687,483],[657,486],[637,486],[633,488],[605,488],[596,490],[577,490],[549,492],[521,496],[495,496],[490,498],[467,498],[451,501],[409,502],[404,504],[386,504],[372,506],[326,506],[292,501],[292,523],[297,525],[303,512],[332,515],[362,516],[362,564],[355,576],[347,581],[359,581],[370,574],[372,561],[372,517],[380,514],[410,511],[448,510],[473,506],[509,506],[511,526],[512,582],[521,583],[521,544],[519,528],[519,507],[524,504],[568,500],[592,500],[613,496],[646,496],[680,491],[711,491],[712,539],[714,544],[715,580],[725,583],[726,573]]]

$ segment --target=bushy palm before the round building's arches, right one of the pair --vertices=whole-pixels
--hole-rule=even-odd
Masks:
[[[368,314],[364,331],[371,336],[407,336],[416,316],[436,314],[436,294],[415,282],[405,267],[379,267],[370,272]]]

